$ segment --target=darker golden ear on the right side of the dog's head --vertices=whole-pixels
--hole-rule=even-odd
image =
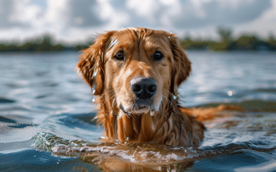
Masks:
[[[177,95],[179,85],[181,85],[190,74],[191,63],[177,37],[170,34],[169,39],[170,48],[174,58],[172,63],[172,83],[170,85],[170,92]]]

